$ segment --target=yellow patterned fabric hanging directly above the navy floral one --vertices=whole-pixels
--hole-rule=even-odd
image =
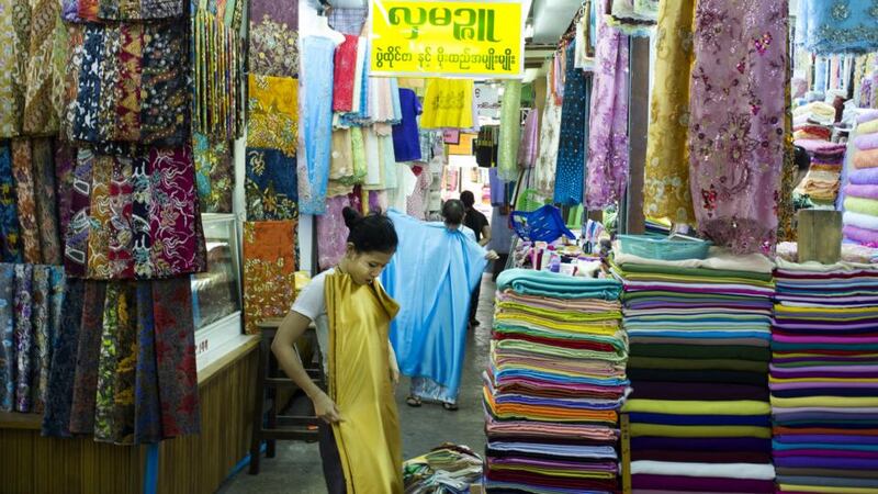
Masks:
[[[249,76],[247,145],[295,156],[299,146],[299,81]]]

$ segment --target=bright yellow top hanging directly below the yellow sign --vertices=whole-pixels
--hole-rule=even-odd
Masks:
[[[430,79],[424,97],[421,128],[472,128],[473,81]]]

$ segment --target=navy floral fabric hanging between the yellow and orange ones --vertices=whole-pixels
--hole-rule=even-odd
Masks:
[[[296,160],[275,149],[247,149],[244,184],[250,221],[297,220]]]

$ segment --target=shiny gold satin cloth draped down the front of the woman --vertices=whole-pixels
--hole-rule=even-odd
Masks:
[[[390,379],[390,323],[399,311],[384,289],[326,277],[329,396],[344,422],[333,426],[348,492],[402,493],[403,449]]]

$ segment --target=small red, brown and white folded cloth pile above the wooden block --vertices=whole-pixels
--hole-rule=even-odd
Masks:
[[[809,195],[818,205],[822,204],[834,209],[841,189],[842,166],[847,146],[811,139],[796,141],[796,145],[804,148],[811,158],[811,168],[799,183],[796,192]]]

